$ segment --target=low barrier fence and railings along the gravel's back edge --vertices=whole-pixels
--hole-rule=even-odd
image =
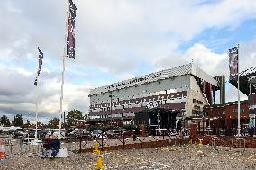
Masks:
[[[0,137],[5,140],[6,155],[14,154],[41,154],[41,145],[30,145],[31,137],[14,139],[12,136]],[[229,150],[239,150],[241,153],[245,152],[247,141],[245,138],[229,138],[223,139],[222,137],[208,136],[207,141],[202,137],[204,144],[209,144],[213,149],[219,151],[218,146],[229,147]],[[98,143],[98,147],[101,150],[111,149],[127,149],[127,148],[148,148],[148,147],[161,147],[166,145],[184,145],[189,142],[189,138],[179,138],[177,136],[137,136],[119,134],[111,137],[100,136],[81,136],[68,137],[65,140],[61,140],[61,147],[67,148],[68,151],[79,153],[83,150],[90,150],[94,148],[94,140]],[[198,143],[198,142],[197,142]]]

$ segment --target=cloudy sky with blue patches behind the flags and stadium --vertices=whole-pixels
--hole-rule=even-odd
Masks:
[[[211,76],[227,76],[227,51],[238,43],[240,69],[256,65],[255,0],[73,2],[76,59],[66,59],[65,111],[87,112],[91,88],[192,59]],[[66,9],[66,0],[0,1],[0,116],[34,119],[36,94],[40,120],[58,116]],[[36,90],[38,46],[44,59]],[[227,101],[235,92],[227,83]]]

